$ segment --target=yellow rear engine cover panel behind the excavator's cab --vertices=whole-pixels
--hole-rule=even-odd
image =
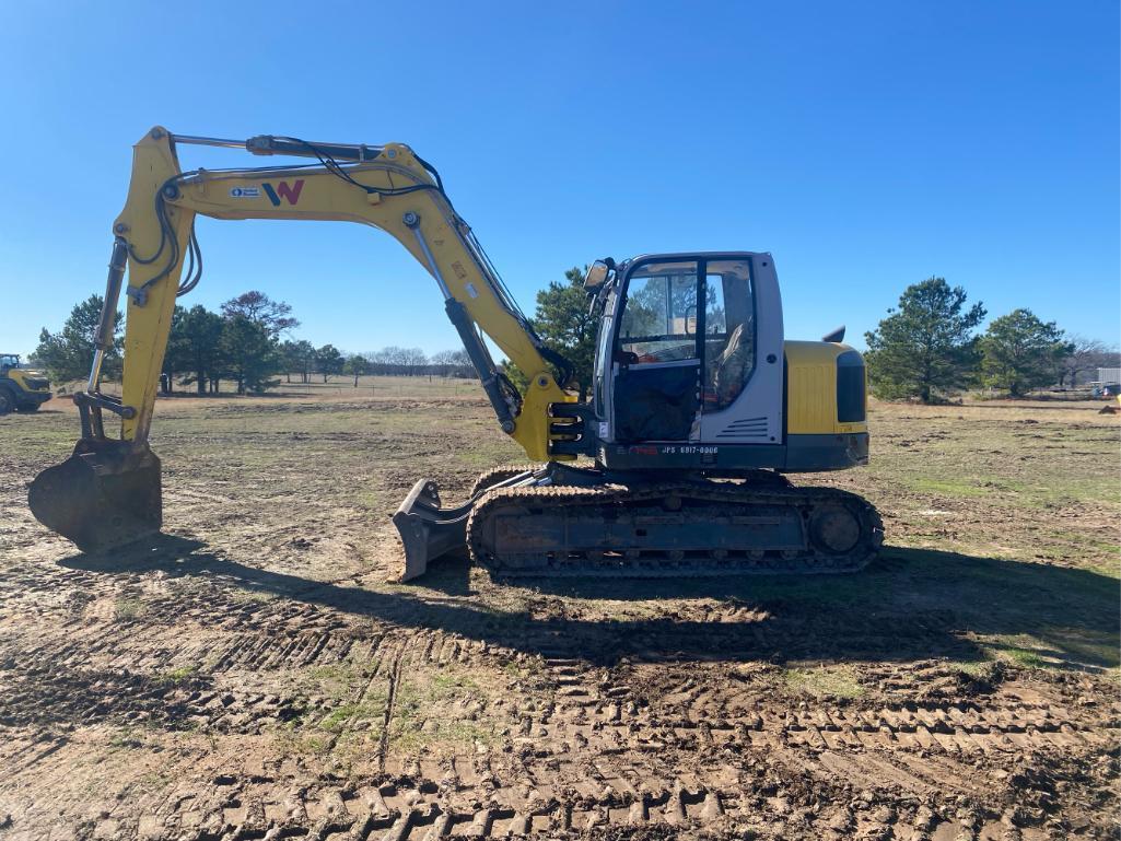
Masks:
[[[836,359],[852,350],[836,342],[786,342],[786,429],[790,435],[868,432],[868,423],[837,423]],[[867,377],[867,372],[865,372]],[[868,387],[864,388],[865,401]]]

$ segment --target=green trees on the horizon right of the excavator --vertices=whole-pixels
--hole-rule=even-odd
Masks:
[[[872,392],[884,399],[936,403],[974,388],[1022,397],[1043,388],[1076,388],[1097,368],[1118,364],[1103,342],[1067,335],[1030,309],[1013,309],[980,325],[980,302],[932,277],[908,286],[899,304],[864,334]]]

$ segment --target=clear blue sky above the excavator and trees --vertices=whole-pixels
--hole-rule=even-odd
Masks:
[[[1115,0],[6,3],[0,350],[102,290],[130,147],[156,123],[411,145],[527,312],[596,257],[766,250],[788,338],[845,323],[862,346],[941,275],[991,316],[1115,343],[1118,33]],[[258,288],[315,344],[457,344],[378,231],[198,235],[184,303]]]

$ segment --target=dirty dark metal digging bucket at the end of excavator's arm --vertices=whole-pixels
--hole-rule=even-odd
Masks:
[[[127,441],[78,441],[27,497],[39,523],[91,554],[156,534],[163,523],[159,459]]]

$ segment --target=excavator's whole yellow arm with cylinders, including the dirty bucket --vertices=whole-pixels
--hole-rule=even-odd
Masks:
[[[316,163],[182,172],[178,144],[240,147],[254,155]],[[82,438],[74,455],[44,471],[29,493],[36,517],[83,551],[112,548],[159,529],[159,461],[147,442],[175,299],[194,288],[202,271],[196,215],[349,221],[386,231],[435,279],[503,432],[535,461],[573,458],[563,445],[552,446],[571,443],[577,423],[569,413],[550,408],[574,401],[549,364],[563,370],[564,360],[535,335],[456,214],[438,174],[409,147],[312,144],[270,136],[242,142],[175,136],[157,127],[135,147],[128,198],[113,224],[95,357],[86,390],[74,398]],[[124,368],[117,399],[103,395],[99,382],[126,269]],[[498,370],[481,333],[527,375],[524,396]],[[119,438],[105,435],[106,412],[120,417]],[[435,491],[425,488],[418,482],[402,511],[426,503],[438,508]],[[402,537],[408,544],[405,529]],[[428,539],[427,534],[420,537]]]

